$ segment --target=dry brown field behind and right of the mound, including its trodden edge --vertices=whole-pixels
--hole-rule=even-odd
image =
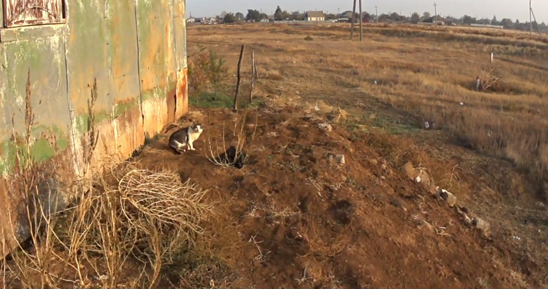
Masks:
[[[239,46],[246,44],[244,94],[254,50],[260,74],[255,94],[323,101],[346,110],[347,129],[366,133],[369,147],[398,169],[410,159],[429,169],[462,205],[488,220],[492,242],[522,256],[516,257],[521,263],[511,262],[516,271],[546,282],[540,272],[548,264],[548,214],[542,206],[548,197],[548,38],[504,30],[367,25],[359,42],[357,30],[349,40],[349,28],[194,26],[187,32],[189,55],[200,46],[215,50],[232,74]],[[477,76],[500,82],[478,92]],[[425,120],[435,121],[437,129],[422,129]],[[372,136],[380,132],[390,141]],[[476,276],[484,279],[489,277]]]

